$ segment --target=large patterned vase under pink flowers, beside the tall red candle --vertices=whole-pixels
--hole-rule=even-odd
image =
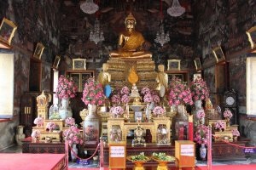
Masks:
[[[177,105],[177,114],[172,117],[172,141],[189,139],[189,118],[185,115],[185,106]]]

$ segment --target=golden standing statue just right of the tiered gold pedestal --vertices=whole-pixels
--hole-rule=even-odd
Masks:
[[[166,89],[168,88],[168,75],[165,72],[165,65],[158,65],[158,73],[156,76],[157,90],[160,91],[160,97],[166,94]]]

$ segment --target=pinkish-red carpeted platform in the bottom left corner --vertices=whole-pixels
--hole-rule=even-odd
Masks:
[[[1,170],[51,170],[65,168],[65,154],[0,154]]]

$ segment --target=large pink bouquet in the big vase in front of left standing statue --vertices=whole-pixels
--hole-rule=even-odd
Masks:
[[[94,77],[88,78],[84,83],[82,101],[85,105],[102,105],[105,103],[102,84],[100,82],[96,82]]]

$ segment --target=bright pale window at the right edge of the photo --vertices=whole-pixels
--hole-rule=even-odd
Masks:
[[[247,115],[256,116],[256,57],[247,58]]]

